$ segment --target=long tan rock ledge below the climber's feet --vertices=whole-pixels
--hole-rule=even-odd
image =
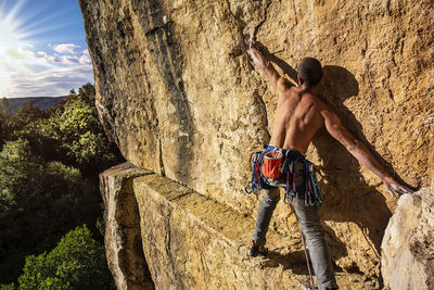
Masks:
[[[124,171],[129,174],[125,174]],[[118,182],[124,178],[119,194]],[[148,289],[150,276],[142,276],[142,288],[131,278],[119,277],[143,266],[138,256],[144,253],[156,289],[302,289],[308,285],[308,272],[299,234],[284,237],[270,230],[270,253],[267,257],[247,255],[254,227],[251,216],[199,194],[194,190],[156,174],[124,164],[101,175],[102,192],[117,206],[106,206],[106,251],[117,251],[117,261],[110,261],[118,289]],[[131,228],[128,219],[140,219],[143,251],[131,251]],[[140,215],[140,216],[139,216]],[[136,222],[135,222],[136,223]],[[136,226],[135,226],[136,228]],[[111,229],[111,230],[108,230]],[[118,244],[123,245],[119,247]],[[137,244],[137,243],[135,243]],[[117,247],[117,248],[116,248]],[[108,255],[113,256],[113,255]],[[120,268],[116,263],[123,263]],[[116,270],[113,269],[116,267]],[[136,277],[137,278],[137,277]],[[341,289],[378,289],[378,281],[360,273],[336,268]],[[151,289],[151,288],[149,288]]]

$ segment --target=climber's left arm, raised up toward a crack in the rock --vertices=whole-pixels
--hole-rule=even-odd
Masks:
[[[266,74],[268,81],[275,90],[279,91],[292,86],[291,81],[280,76],[278,71],[276,71],[275,66],[267,59],[267,49],[263,45],[251,40],[247,52],[255,65]]]

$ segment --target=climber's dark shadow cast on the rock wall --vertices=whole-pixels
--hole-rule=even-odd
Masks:
[[[319,87],[320,98],[332,108],[344,126],[371,151],[380,164],[393,172],[391,164],[368,142],[361,124],[344,105],[345,100],[359,92],[354,75],[346,68],[334,65],[326,65],[323,71],[324,77]],[[329,196],[323,205],[327,210],[321,211],[322,217],[355,223],[379,255],[384,230],[392,216],[384,196],[365,181],[358,161],[326,129],[317,134],[312,143],[323,160],[323,165],[318,166],[318,169],[323,178],[322,188]],[[327,231],[329,230],[331,228]]]

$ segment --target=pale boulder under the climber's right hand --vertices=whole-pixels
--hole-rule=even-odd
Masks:
[[[434,184],[399,199],[381,248],[386,289],[434,289]]]

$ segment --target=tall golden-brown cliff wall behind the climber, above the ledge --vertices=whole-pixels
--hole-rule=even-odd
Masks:
[[[431,0],[79,2],[100,118],[139,167],[254,216],[250,155],[267,143],[277,104],[245,51],[255,35],[289,78],[303,56],[322,62],[324,101],[391,172],[413,186],[434,173]],[[396,202],[326,131],[307,155],[328,194],[333,261],[375,279]],[[279,204],[271,227],[296,237],[294,220]]]

